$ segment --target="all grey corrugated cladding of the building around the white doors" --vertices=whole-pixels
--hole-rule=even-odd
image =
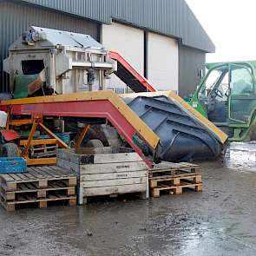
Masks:
[[[194,92],[197,69],[215,47],[184,0],[0,0],[0,91],[8,91],[3,59],[30,25],[80,32],[102,41],[102,23],[113,22],[174,38],[179,45],[179,94]]]

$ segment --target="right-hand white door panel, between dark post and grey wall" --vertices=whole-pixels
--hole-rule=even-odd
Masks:
[[[176,40],[148,33],[148,81],[156,89],[178,92],[179,47]]]

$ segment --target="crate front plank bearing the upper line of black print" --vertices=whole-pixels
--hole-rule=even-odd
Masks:
[[[124,171],[139,171],[148,170],[148,165],[144,161],[135,162],[119,162],[119,163],[105,163],[105,164],[89,164],[80,166],[80,174],[107,174],[107,173],[121,173]]]

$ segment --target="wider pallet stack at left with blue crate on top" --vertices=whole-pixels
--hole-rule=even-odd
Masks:
[[[0,201],[7,211],[20,205],[48,207],[49,202],[76,205],[76,175],[60,167],[30,167],[23,174],[0,175]]]

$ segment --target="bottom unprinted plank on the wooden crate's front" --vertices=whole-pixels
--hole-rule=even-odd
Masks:
[[[144,184],[130,184],[126,186],[112,186],[112,187],[91,187],[83,188],[83,197],[108,195],[108,194],[127,194],[146,191],[146,183]]]

